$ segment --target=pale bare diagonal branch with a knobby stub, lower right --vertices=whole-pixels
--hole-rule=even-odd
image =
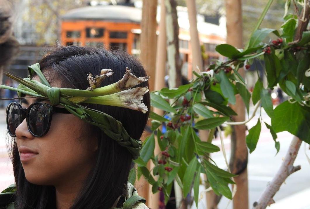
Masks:
[[[298,137],[293,137],[289,150],[278,170],[277,174],[272,178],[272,181],[267,185],[265,191],[260,196],[257,202],[254,202],[253,209],[265,209],[268,205],[274,203],[273,196],[279,191],[281,185],[288,176],[300,170],[300,165],[294,166],[302,141]]]

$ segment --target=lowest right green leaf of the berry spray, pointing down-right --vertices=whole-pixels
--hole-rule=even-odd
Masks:
[[[215,194],[223,194],[228,199],[232,199],[232,192],[224,178],[217,176],[210,168],[206,168],[206,175]]]

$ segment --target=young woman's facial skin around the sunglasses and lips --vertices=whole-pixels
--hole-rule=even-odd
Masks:
[[[38,77],[33,80],[39,81]],[[52,83],[60,87],[59,83]],[[26,97],[29,97],[26,95]],[[26,98],[28,108],[34,98]],[[42,101],[51,104],[48,100]],[[56,107],[62,107],[60,105]],[[43,137],[34,137],[28,132],[26,119],[16,128],[16,144],[36,153],[22,160],[26,179],[37,185],[64,185],[81,182],[95,164],[97,138],[90,125],[72,114],[53,113],[51,127]]]

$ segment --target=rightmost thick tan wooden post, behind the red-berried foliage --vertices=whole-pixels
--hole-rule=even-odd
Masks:
[[[242,15],[241,0],[226,0],[226,27],[227,43],[235,47],[242,47]],[[239,73],[244,77],[244,70],[241,68]],[[232,109],[238,114],[233,117],[236,122],[245,120],[245,105],[240,95],[236,95],[236,105],[231,105]],[[234,209],[248,209],[248,177],[247,161],[248,150],[246,148],[246,126],[236,125],[233,127],[231,136],[231,157],[230,169],[232,173],[238,174],[234,180],[237,184],[237,192],[233,198]]]

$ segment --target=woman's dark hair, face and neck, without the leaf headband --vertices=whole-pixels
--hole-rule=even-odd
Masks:
[[[59,88],[89,89],[87,75],[99,75],[104,68],[112,69],[113,75],[107,76],[101,87],[122,79],[126,67],[137,77],[147,76],[133,56],[91,47],[58,46],[40,61],[39,66],[48,83]],[[30,79],[40,81],[36,74]],[[137,86],[147,87],[148,82]],[[51,100],[25,96],[21,99],[22,108],[38,101],[53,105]],[[149,109],[148,93],[144,94],[143,103]],[[120,121],[133,139],[141,137],[148,121],[148,111],[144,114],[123,107],[81,105]],[[68,114],[59,104],[54,107],[59,108],[53,113],[47,133],[36,137],[33,132],[42,130],[29,128],[31,122],[23,120],[9,144],[16,183],[15,208],[122,207],[126,197],[131,196],[127,181],[134,157],[132,153],[97,126]]]

